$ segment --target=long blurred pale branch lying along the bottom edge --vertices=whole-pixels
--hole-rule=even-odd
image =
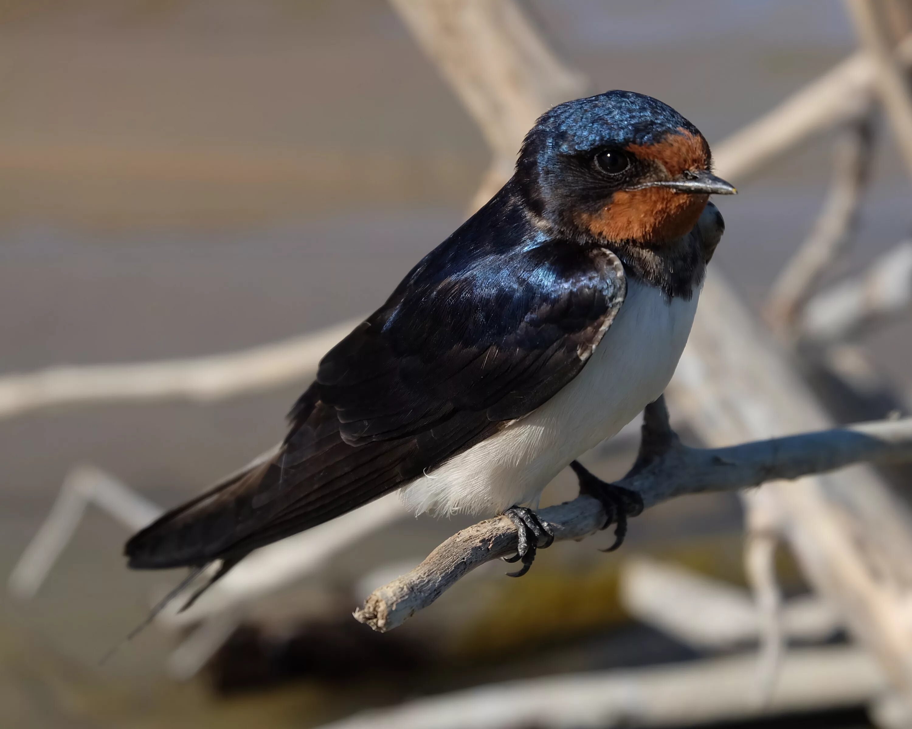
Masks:
[[[795,650],[768,706],[751,701],[752,655],[494,683],[356,714],[322,729],[606,729],[738,721],[858,706],[886,689],[862,651]]]

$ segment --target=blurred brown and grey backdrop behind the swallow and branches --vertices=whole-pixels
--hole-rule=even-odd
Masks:
[[[521,6],[597,91],[660,98],[710,145],[856,47],[837,0]],[[0,69],[0,374],[230,352],[368,312],[464,219],[490,159],[380,0],[5,0]],[[741,194],[717,201],[727,233],[712,267],[758,314],[814,224],[832,141],[732,180]],[[825,280],[903,240],[908,202],[883,134],[857,241]],[[908,392],[912,320],[864,344]],[[72,467],[171,507],[283,436],[305,385],[0,420],[0,573]],[[636,447],[634,432],[586,462],[617,477]],[[563,474],[546,500],[572,498],[574,482]],[[154,625],[98,665],[180,575],[126,570],[129,530],[88,508],[34,599],[0,598],[0,725],[309,727],[506,679],[695,660],[699,648],[619,600],[623,561],[648,554],[744,582],[739,499],[699,496],[636,519],[620,553],[596,550],[605,534],[542,552],[523,580],[486,565],[385,635],[351,619],[467,523],[407,518],[358,539],[257,601],[177,680],[168,658],[185,633]],[[804,589],[785,553],[780,576]],[[860,704],[827,712],[764,721],[868,725]]]

